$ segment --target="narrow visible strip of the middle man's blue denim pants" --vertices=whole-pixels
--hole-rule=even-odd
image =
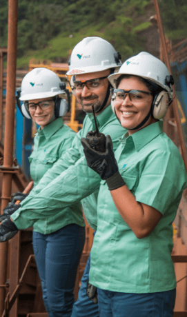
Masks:
[[[78,299],[73,305],[71,317],[99,317],[98,304],[94,304],[86,295],[86,286],[90,272],[90,256],[81,278],[81,288],[79,289]]]

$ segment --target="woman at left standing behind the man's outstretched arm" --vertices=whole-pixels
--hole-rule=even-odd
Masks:
[[[61,117],[68,110],[66,99],[61,98],[65,92],[63,88],[59,76],[46,68],[31,70],[21,83],[21,112],[39,125],[34,150],[29,157],[34,188],[71,147],[75,137],[75,132],[63,123]],[[45,210],[42,203],[40,207]],[[9,223],[16,232],[16,224],[10,220],[10,215],[1,223],[1,229]],[[32,243],[48,316],[69,317],[74,303],[77,267],[85,243],[81,204],[59,208],[50,216],[37,219],[33,223]]]

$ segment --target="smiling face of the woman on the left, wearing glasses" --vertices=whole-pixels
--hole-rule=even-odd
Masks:
[[[43,99],[34,99],[34,100],[29,100],[28,105],[31,103],[39,103],[40,101],[49,101],[49,107],[45,110],[43,110],[39,105],[37,105],[37,109],[35,110],[30,110],[30,116],[32,119],[40,125],[41,129],[48,125],[50,122],[55,120],[55,115],[54,115],[54,108],[55,108],[55,103],[52,100],[52,98],[43,98]]]

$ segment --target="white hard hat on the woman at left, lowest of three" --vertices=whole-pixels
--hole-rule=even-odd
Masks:
[[[63,93],[59,76],[47,68],[35,68],[21,83],[21,101],[48,98]]]

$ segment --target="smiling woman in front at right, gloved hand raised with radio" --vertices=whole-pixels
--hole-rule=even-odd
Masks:
[[[128,133],[115,154],[110,136],[102,153],[81,140],[102,179],[89,283],[97,287],[101,317],[173,317],[172,223],[187,186],[184,162],[160,121],[173,77],[141,52],[108,79],[113,111]]]

